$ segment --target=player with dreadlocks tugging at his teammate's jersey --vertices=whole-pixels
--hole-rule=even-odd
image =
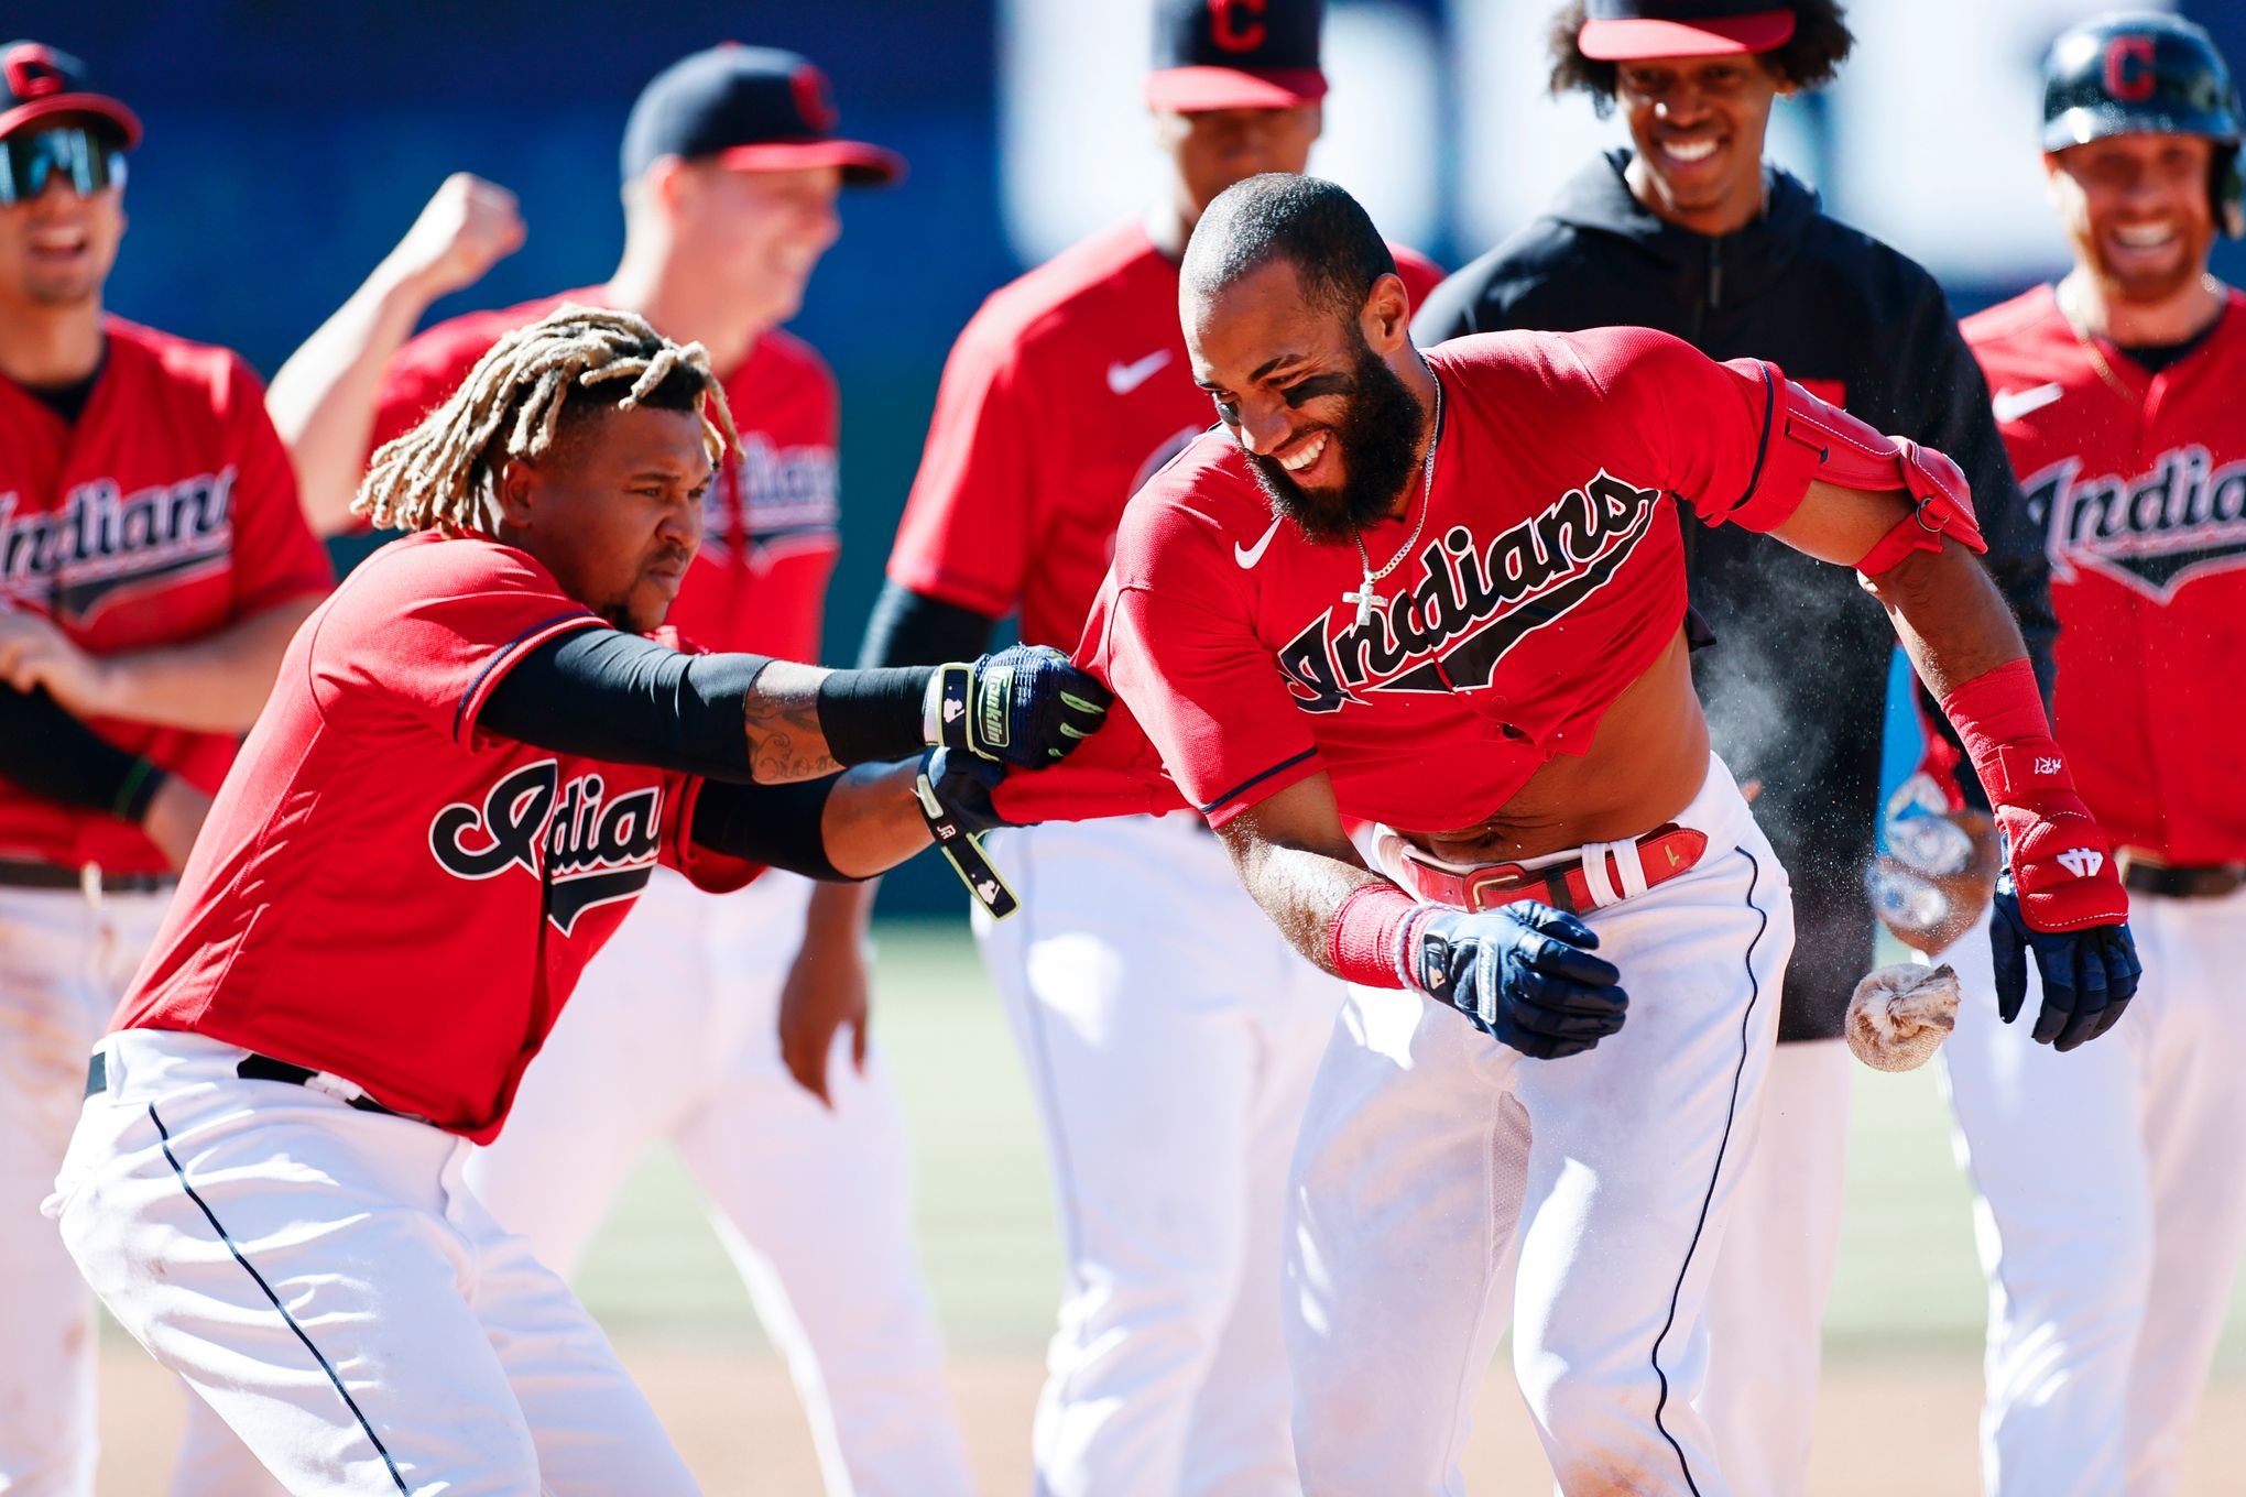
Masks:
[[[47,1210],[292,1493],[692,1493],[469,1147],[658,864],[876,873],[1105,714],[1024,646],[838,673],[642,637],[730,444],[699,346],[562,307],[377,451],[359,505],[413,534],[290,642],[94,1048]]]

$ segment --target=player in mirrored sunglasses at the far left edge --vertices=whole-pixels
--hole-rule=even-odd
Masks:
[[[249,366],[101,310],[139,119],[0,47],[0,1490],[94,1490],[94,1306],[31,1214],[173,869],[332,575]]]

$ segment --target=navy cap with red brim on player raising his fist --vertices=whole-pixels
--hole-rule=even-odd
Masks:
[[[624,182],[660,157],[739,171],[840,166],[849,186],[887,186],[905,157],[836,139],[827,74],[779,47],[723,43],[678,58],[640,90],[624,123]]]

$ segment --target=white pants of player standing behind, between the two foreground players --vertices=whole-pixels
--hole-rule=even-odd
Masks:
[[[977,922],[1044,1124],[1067,1284],[1042,1497],[1300,1493],[1278,1264],[1287,1158],[1343,985],[1197,817],[1002,833]]]

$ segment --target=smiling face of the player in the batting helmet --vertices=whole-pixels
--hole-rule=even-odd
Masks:
[[[2109,135],[2044,157],[2075,260],[2111,301],[2161,303],[2206,272],[2212,162],[2203,135]]]

